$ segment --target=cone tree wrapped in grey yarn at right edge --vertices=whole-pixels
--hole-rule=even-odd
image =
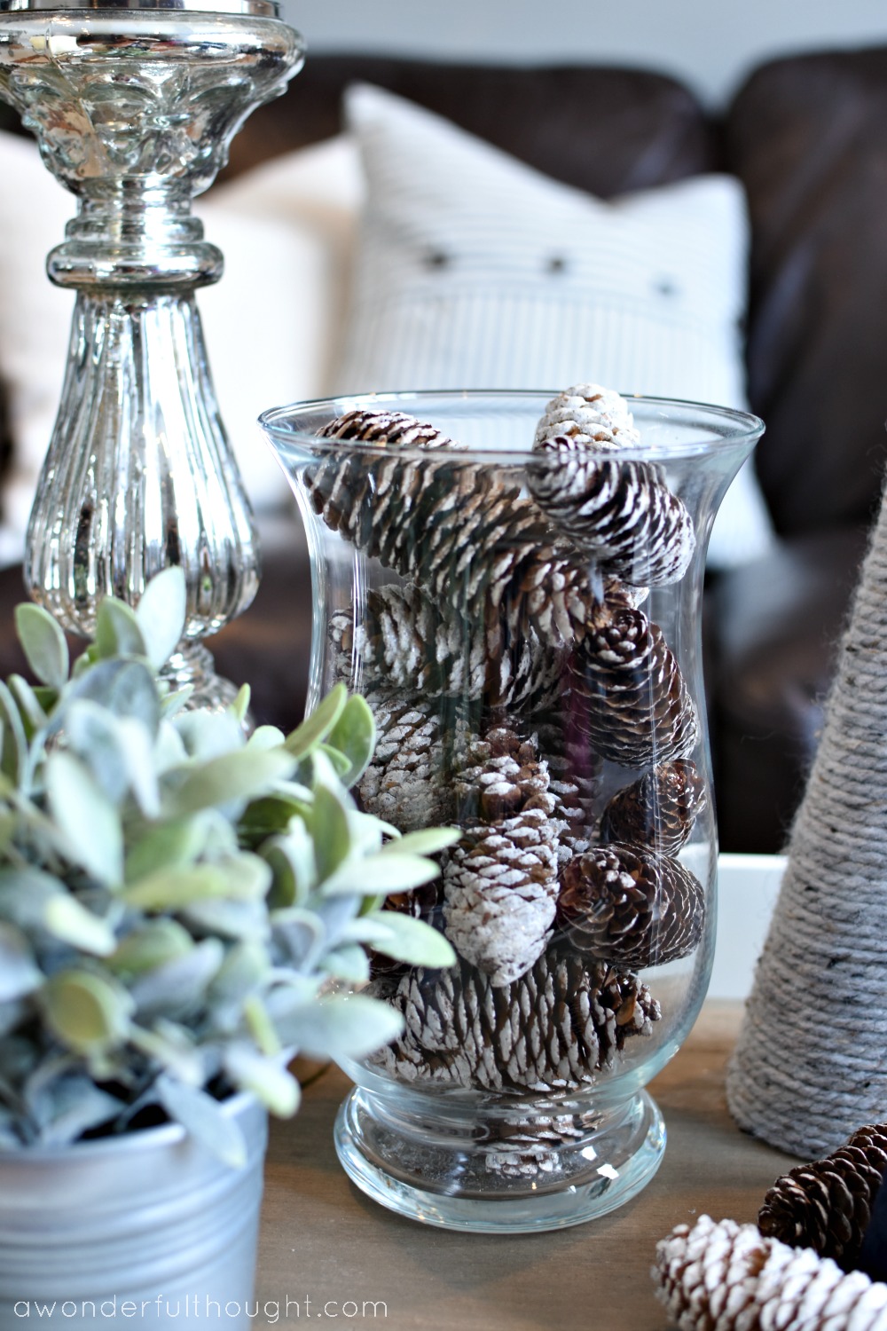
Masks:
[[[727,1069],[737,1123],[801,1157],[887,1110],[887,495]]]

